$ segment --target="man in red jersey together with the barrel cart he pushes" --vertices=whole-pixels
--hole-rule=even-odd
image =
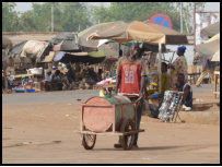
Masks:
[[[115,148],[138,148],[138,133],[142,115],[142,98],[148,69],[141,60],[138,44],[130,46],[130,55],[121,57],[117,67],[116,94],[109,98],[92,97],[81,106],[80,133],[82,145],[92,150],[96,134],[119,135]]]

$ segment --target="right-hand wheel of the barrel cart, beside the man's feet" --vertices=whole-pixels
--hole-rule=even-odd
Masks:
[[[135,122],[131,119],[122,121],[121,128],[120,128],[120,131],[122,133],[135,131],[135,130],[136,130],[136,126],[135,126]],[[132,147],[132,144],[133,144],[133,141],[135,141],[135,133],[127,134],[127,135],[121,135],[120,141],[121,141],[121,147],[124,150],[130,150]]]

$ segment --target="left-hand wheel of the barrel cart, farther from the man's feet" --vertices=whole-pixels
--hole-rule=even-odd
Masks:
[[[95,134],[83,134],[82,145],[85,150],[92,150],[95,145],[96,135]]]

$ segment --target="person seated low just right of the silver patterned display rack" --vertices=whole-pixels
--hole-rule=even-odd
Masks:
[[[191,110],[191,108],[192,108],[192,88],[188,83],[185,82],[185,75],[183,73],[178,74],[176,87],[177,87],[177,91],[184,92],[183,99],[182,99],[183,108],[186,111]]]

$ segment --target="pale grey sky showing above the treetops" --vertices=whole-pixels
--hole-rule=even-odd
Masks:
[[[43,2],[37,2],[43,3]],[[101,5],[109,7],[110,2],[89,2],[93,5]],[[32,2],[16,2],[15,11],[17,12],[25,12],[32,9]],[[205,11],[220,11],[220,2],[207,2]]]

